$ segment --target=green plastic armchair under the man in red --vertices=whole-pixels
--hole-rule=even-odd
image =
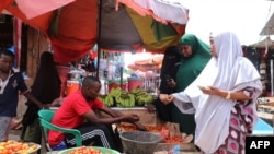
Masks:
[[[76,146],[82,146],[82,138],[81,138],[80,131],[77,129],[66,129],[66,128],[61,128],[61,127],[57,127],[57,126],[53,125],[52,119],[54,117],[54,114],[55,114],[55,111],[49,110],[49,109],[41,109],[38,111],[39,122],[41,122],[41,126],[43,127],[43,135],[45,139],[47,150],[52,151],[52,149],[48,144],[48,140],[47,140],[48,130],[60,131],[64,133],[71,133],[76,138]]]

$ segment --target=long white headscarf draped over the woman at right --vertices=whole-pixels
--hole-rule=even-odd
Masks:
[[[220,33],[214,37],[214,44],[218,57],[209,60],[184,92],[173,94],[174,104],[182,112],[185,111],[183,103],[193,103],[195,144],[207,154],[214,153],[228,137],[230,112],[236,100],[203,94],[197,85],[212,85],[224,91],[241,91],[251,86],[255,88],[254,100],[262,92],[260,74],[250,60],[242,56],[238,37],[231,32]]]

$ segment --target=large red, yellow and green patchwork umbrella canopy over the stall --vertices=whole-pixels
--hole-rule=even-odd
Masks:
[[[187,10],[182,14],[185,23],[179,24],[162,20],[149,11],[142,16],[136,5],[117,3],[115,0],[102,0],[100,5],[96,0],[72,0],[58,9],[27,19],[14,4],[16,1],[22,0],[4,0],[4,7],[0,9],[41,29],[49,38],[56,61],[60,63],[78,60],[95,44],[106,51],[135,52],[145,48],[151,52],[164,52],[165,48],[178,44],[187,21]]]

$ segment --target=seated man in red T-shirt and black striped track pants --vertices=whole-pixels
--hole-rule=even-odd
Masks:
[[[115,135],[111,125],[117,122],[134,123],[139,130],[146,130],[140,125],[137,115],[123,115],[106,107],[98,96],[101,88],[100,80],[94,76],[85,76],[81,91],[78,91],[64,99],[62,105],[56,111],[53,123],[61,128],[78,129],[82,135],[84,145],[103,146],[123,152],[118,135]],[[101,110],[110,118],[99,118],[95,110]],[[76,140],[71,134],[64,134],[54,130],[49,131],[48,142],[53,150],[61,150],[76,146]]]

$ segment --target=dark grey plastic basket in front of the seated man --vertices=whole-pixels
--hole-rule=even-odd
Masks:
[[[125,131],[119,134],[125,154],[152,154],[163,139],[146,131]]]

